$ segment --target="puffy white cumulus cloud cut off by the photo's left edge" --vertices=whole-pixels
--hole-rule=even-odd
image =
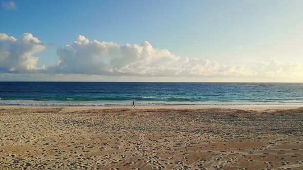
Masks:
[[[32,72],[37,68],[39,58],[32,55],[45,49],[42,42],[30,33],[19,38],[0,33],[0,72],[19,73]]]

